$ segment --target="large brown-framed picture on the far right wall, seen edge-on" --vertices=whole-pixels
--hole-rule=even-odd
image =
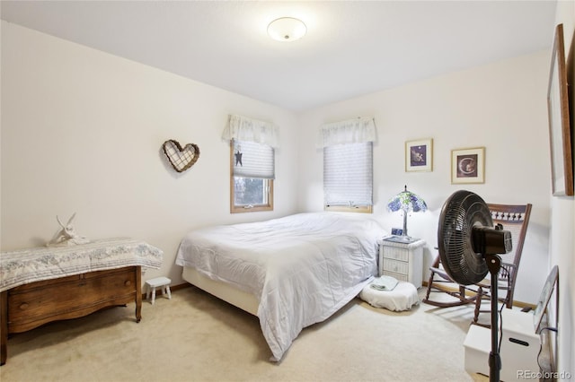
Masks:
[[[549,113],[549,143],[551,143],[551,182],[553,195],[573,195],[573,162],[567,71],[563,46],[563,25],[555,28],[547,109]]]

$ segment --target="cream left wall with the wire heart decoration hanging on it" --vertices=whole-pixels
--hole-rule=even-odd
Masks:
[[[229,213],[228,114],[280,129],[274,211]],[[128,236],[164,250],[174,264],[183,235],[215,223],[295,212],[292,113],[155,68],[2,22],[2,250],[43,245],[56,215],[75,217],[90,239]],[[199,145],[179,175],[161,146]]]

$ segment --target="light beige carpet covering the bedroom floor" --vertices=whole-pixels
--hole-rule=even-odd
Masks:
[[[420,297],[423,290],[420,290]],[[394,313],[355,299],[270,362],[257,317],[195,287],[8,340],[12,381],[487,381],[464,370],[473,307]],[[487,360],[486,360],[487,361]]]

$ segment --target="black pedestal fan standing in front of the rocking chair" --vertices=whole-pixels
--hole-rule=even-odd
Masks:
[[[441,208],[438,248],[449,276],[461,284],[481,282],[491,274],[490,381],[500,380],[498,344],[498,273],[501,258],[511,250],[511,233],[498,224],[493,227],[489,207],[473,192],[460,190],[449,196]]]

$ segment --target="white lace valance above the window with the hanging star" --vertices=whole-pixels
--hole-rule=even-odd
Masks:
[[[263,143],[278,148],[279,133],[278,127],[270,122],[230,115],[229,124],[224,129],[222,139]]]

